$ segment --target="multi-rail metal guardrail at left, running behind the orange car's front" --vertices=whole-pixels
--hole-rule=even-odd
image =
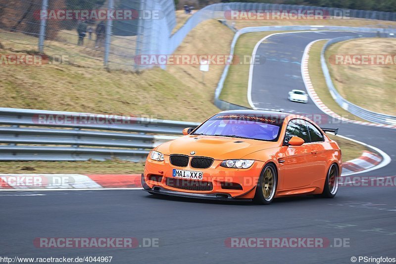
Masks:
[[[143,161],[157,144],[198,123],[0,108],[0,160]]]

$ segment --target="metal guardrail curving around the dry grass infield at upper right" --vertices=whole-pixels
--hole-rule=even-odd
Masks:
[[[343,109],[345,109],[349,113],[352,113],[355,116],[358,116],[358,117],[360,117],[360,118],[362,118],[364,120],[368,120],[368,121],[371,121],[371,122],[374,122],[374,123],[380,123],[380,124],[395,126],[396,125],[396,116],[376,113],[376,112],[364,109],[364,108],[362,108],[360,106],[357,106],[357,105],[349,102],[343,96],[341,96],[341,94],[334,87],[333,81],[331,80],[331,77],[330,77],[329,68],[327,67],[327,63],[326,63],[326,59],[325,59],[326,49],[331,44],[335,44],[335,43],[338,43],[338,42],[347,41],[347,40],[351,40],[351,39],[357,39],[357,38],[359,38],[359,37],[335,38],[335,39],[329,40],[322,48],[322,51],[321,51],[321,54],[320,54],[320,62],[321,62],[321,65],[322,65],[323,74],[325,76],[326,84],[327,84],[327,87],[329,88],[330,94],[333,97],[333,99]]]

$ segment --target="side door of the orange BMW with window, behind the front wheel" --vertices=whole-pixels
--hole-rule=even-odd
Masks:
[[[312,145],[306,122],[302,119],[293,119],[289,122],[285,143],[292,136],[298,136],[304,139],[301,146],[285,145],[282,147],[282,156],[278,159],[279,171],[282,180],[282,189],[308,186],[312,183],[314,176],[312,170]]]

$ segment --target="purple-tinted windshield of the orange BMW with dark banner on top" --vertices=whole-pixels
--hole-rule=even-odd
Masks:
[[[282,121],[263,115],[218,114],[203,123],[193,134],[276,141]]]

